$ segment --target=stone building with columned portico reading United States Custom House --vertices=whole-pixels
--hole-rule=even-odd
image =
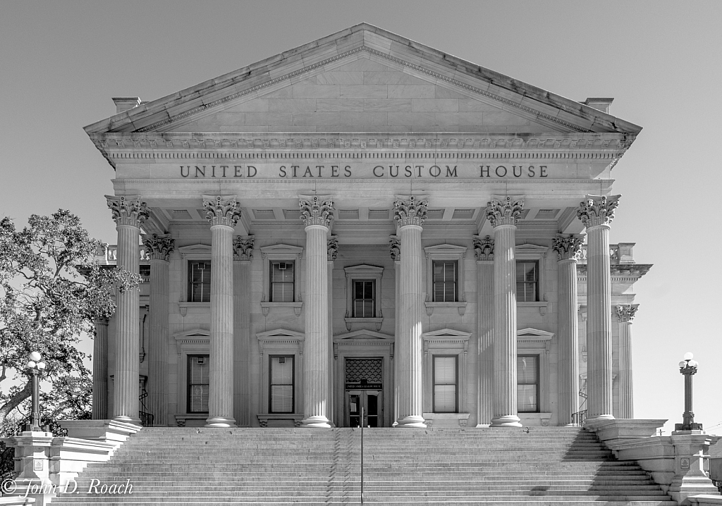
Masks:
[[[633,284],[650,266],[609,230],[612,169],[641,128],[611,99],[362,24],[113,100],[85,128],[115,171],[103,261],[144,283],[97,324],[95,418],[632,417]]]

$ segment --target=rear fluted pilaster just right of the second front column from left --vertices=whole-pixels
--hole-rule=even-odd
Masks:
[[[251,427],[248,371],[251,357],[251,258],[253,236],[233,238],[233,417],[239,427]]]

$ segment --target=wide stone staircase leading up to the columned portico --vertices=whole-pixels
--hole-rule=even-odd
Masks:
[[[148,428],[53,504],[677,505],[584,429],[365,429],[363,481],[360,450],[360,429]]]

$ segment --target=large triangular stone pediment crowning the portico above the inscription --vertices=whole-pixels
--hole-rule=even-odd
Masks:
[[[636,134],[640,128],[362,23],[86,131]]]

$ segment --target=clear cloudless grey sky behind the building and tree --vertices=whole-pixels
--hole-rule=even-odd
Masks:
[[[682,422],[689,351],[695,421],[722,434],[722,2],[0,0],[0,13],[0,216],[63,207],[108,243],[113,169],[82,127],[115,112],[110,97],[154,100],[359,22],[573,100],[614,97],[612,114],[644,130],[612,173],[611,239],[654,264],[635,286],[635,416]]]

